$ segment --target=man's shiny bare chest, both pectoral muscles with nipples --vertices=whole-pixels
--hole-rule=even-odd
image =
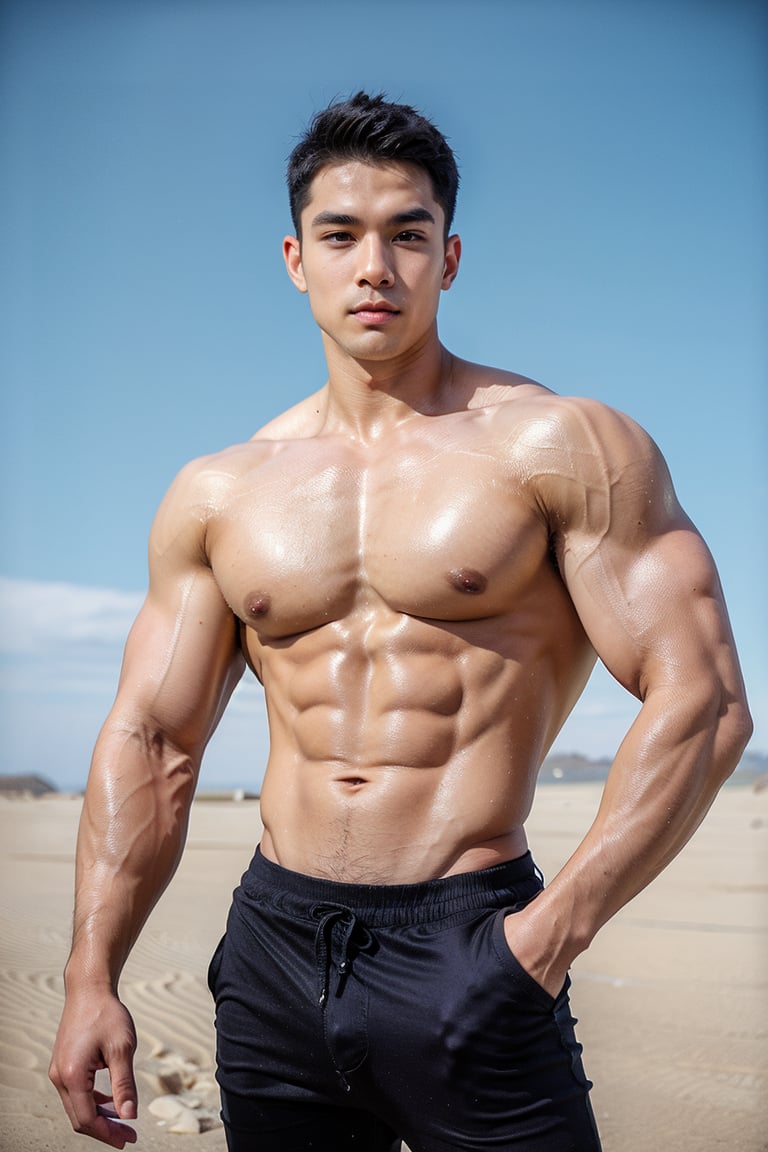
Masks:
[[[547,532],[500,454],[458,442],[287,445],[237,480],[210,536],[233,611],[286,636],[366,597],[396,612],[503,612],[546,561]]]

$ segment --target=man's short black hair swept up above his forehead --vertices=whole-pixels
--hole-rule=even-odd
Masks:
[[[383,94],[358,92],[318,112],[288,158],[290,214],[299,238],[312,181],[320,168],[347,160],[396,160],[424,168],[443,210],[448,236],[456,211],[458,167],[446,137],[409,104],[390,104]]]

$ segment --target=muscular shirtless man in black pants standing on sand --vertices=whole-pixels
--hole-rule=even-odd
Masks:
[[[592,1152],[568,969],[679,851],[750,719],[710,555],[625,416],[450,355],[457,176],[359,93],[289,166],[288,274],[328,382],[187,467],[99,737],[52,1078],[73,1126],[136,1116],[129,950],[182,852],[248,662],[264,836],[211,964],[243,1150]],[[539,766],[595,653],[641,702],[592,827],[541,884]]]

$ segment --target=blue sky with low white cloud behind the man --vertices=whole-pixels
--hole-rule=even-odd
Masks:
[[[746,0],[6,0],[0,771],[82,785],[168,483],[324,382],[284,160],[359,88],[458,154],[447,346],[661,445],[768,750],[767,58]],[[598,674],[557,748],[610,756],[633,714]],[[204,783],[265,749],[245,682]]]

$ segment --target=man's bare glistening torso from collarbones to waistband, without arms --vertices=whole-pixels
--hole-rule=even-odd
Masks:
[[[206,551],[266,689],[261,850],[283,866],[401,884],[525,850],[594,660],[529,483],[548,395],[367,445],[277,422],[216,458]]]

